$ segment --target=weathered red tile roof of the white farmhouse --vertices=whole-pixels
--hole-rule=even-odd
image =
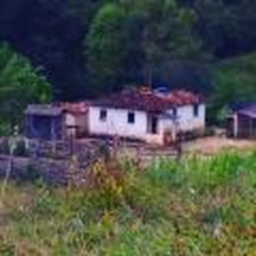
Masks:
[[[202,96],[187,90],[172,90],[158,94],[146,87],[138,90],[123,91],[103,97],[92,105],[105,108],[128,108],[150,113],[162,113],[169,108],[204,102]]]

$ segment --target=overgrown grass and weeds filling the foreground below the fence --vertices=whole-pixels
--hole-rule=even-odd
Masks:
[[[86,189],[9,183],[1,255],[256,255],[256,153],[97,162]]]

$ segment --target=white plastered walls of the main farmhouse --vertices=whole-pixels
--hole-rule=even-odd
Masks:
[[[100,119],[102,108],[90,107],[89,110],[89,132],[94,135],[118,135],[120,137],[133,137],[147,141],[148,143],[163,143],[164,132],[174,129],[172,119],[160,117],[159,133],[148,133],[148,113],[134,111],[135,123],[129,124],[127,109],[106,108],[108,116],[106,120]],[[172,110],[170,110],[172,111]],[[198,109],[198,116],[194,115],[192,105],[177,108],[178,129],[181,131],[193,131],[205,129],[206,108],[201,104]]]

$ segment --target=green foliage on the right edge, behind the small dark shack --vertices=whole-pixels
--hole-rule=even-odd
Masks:
[[[256,101],[256,55],[222,61],[214,74],[214,91],[209,101],[209,118],[218,117],[234,102]]]

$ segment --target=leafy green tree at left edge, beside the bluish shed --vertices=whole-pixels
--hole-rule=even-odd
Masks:
[[[50,86],[25,57],[0,44],[0,125],[20,125],[27,103],[49,102]],[[4,128],[4,129],[3,129]],[[3,131],[2,131],[3,132]]]

